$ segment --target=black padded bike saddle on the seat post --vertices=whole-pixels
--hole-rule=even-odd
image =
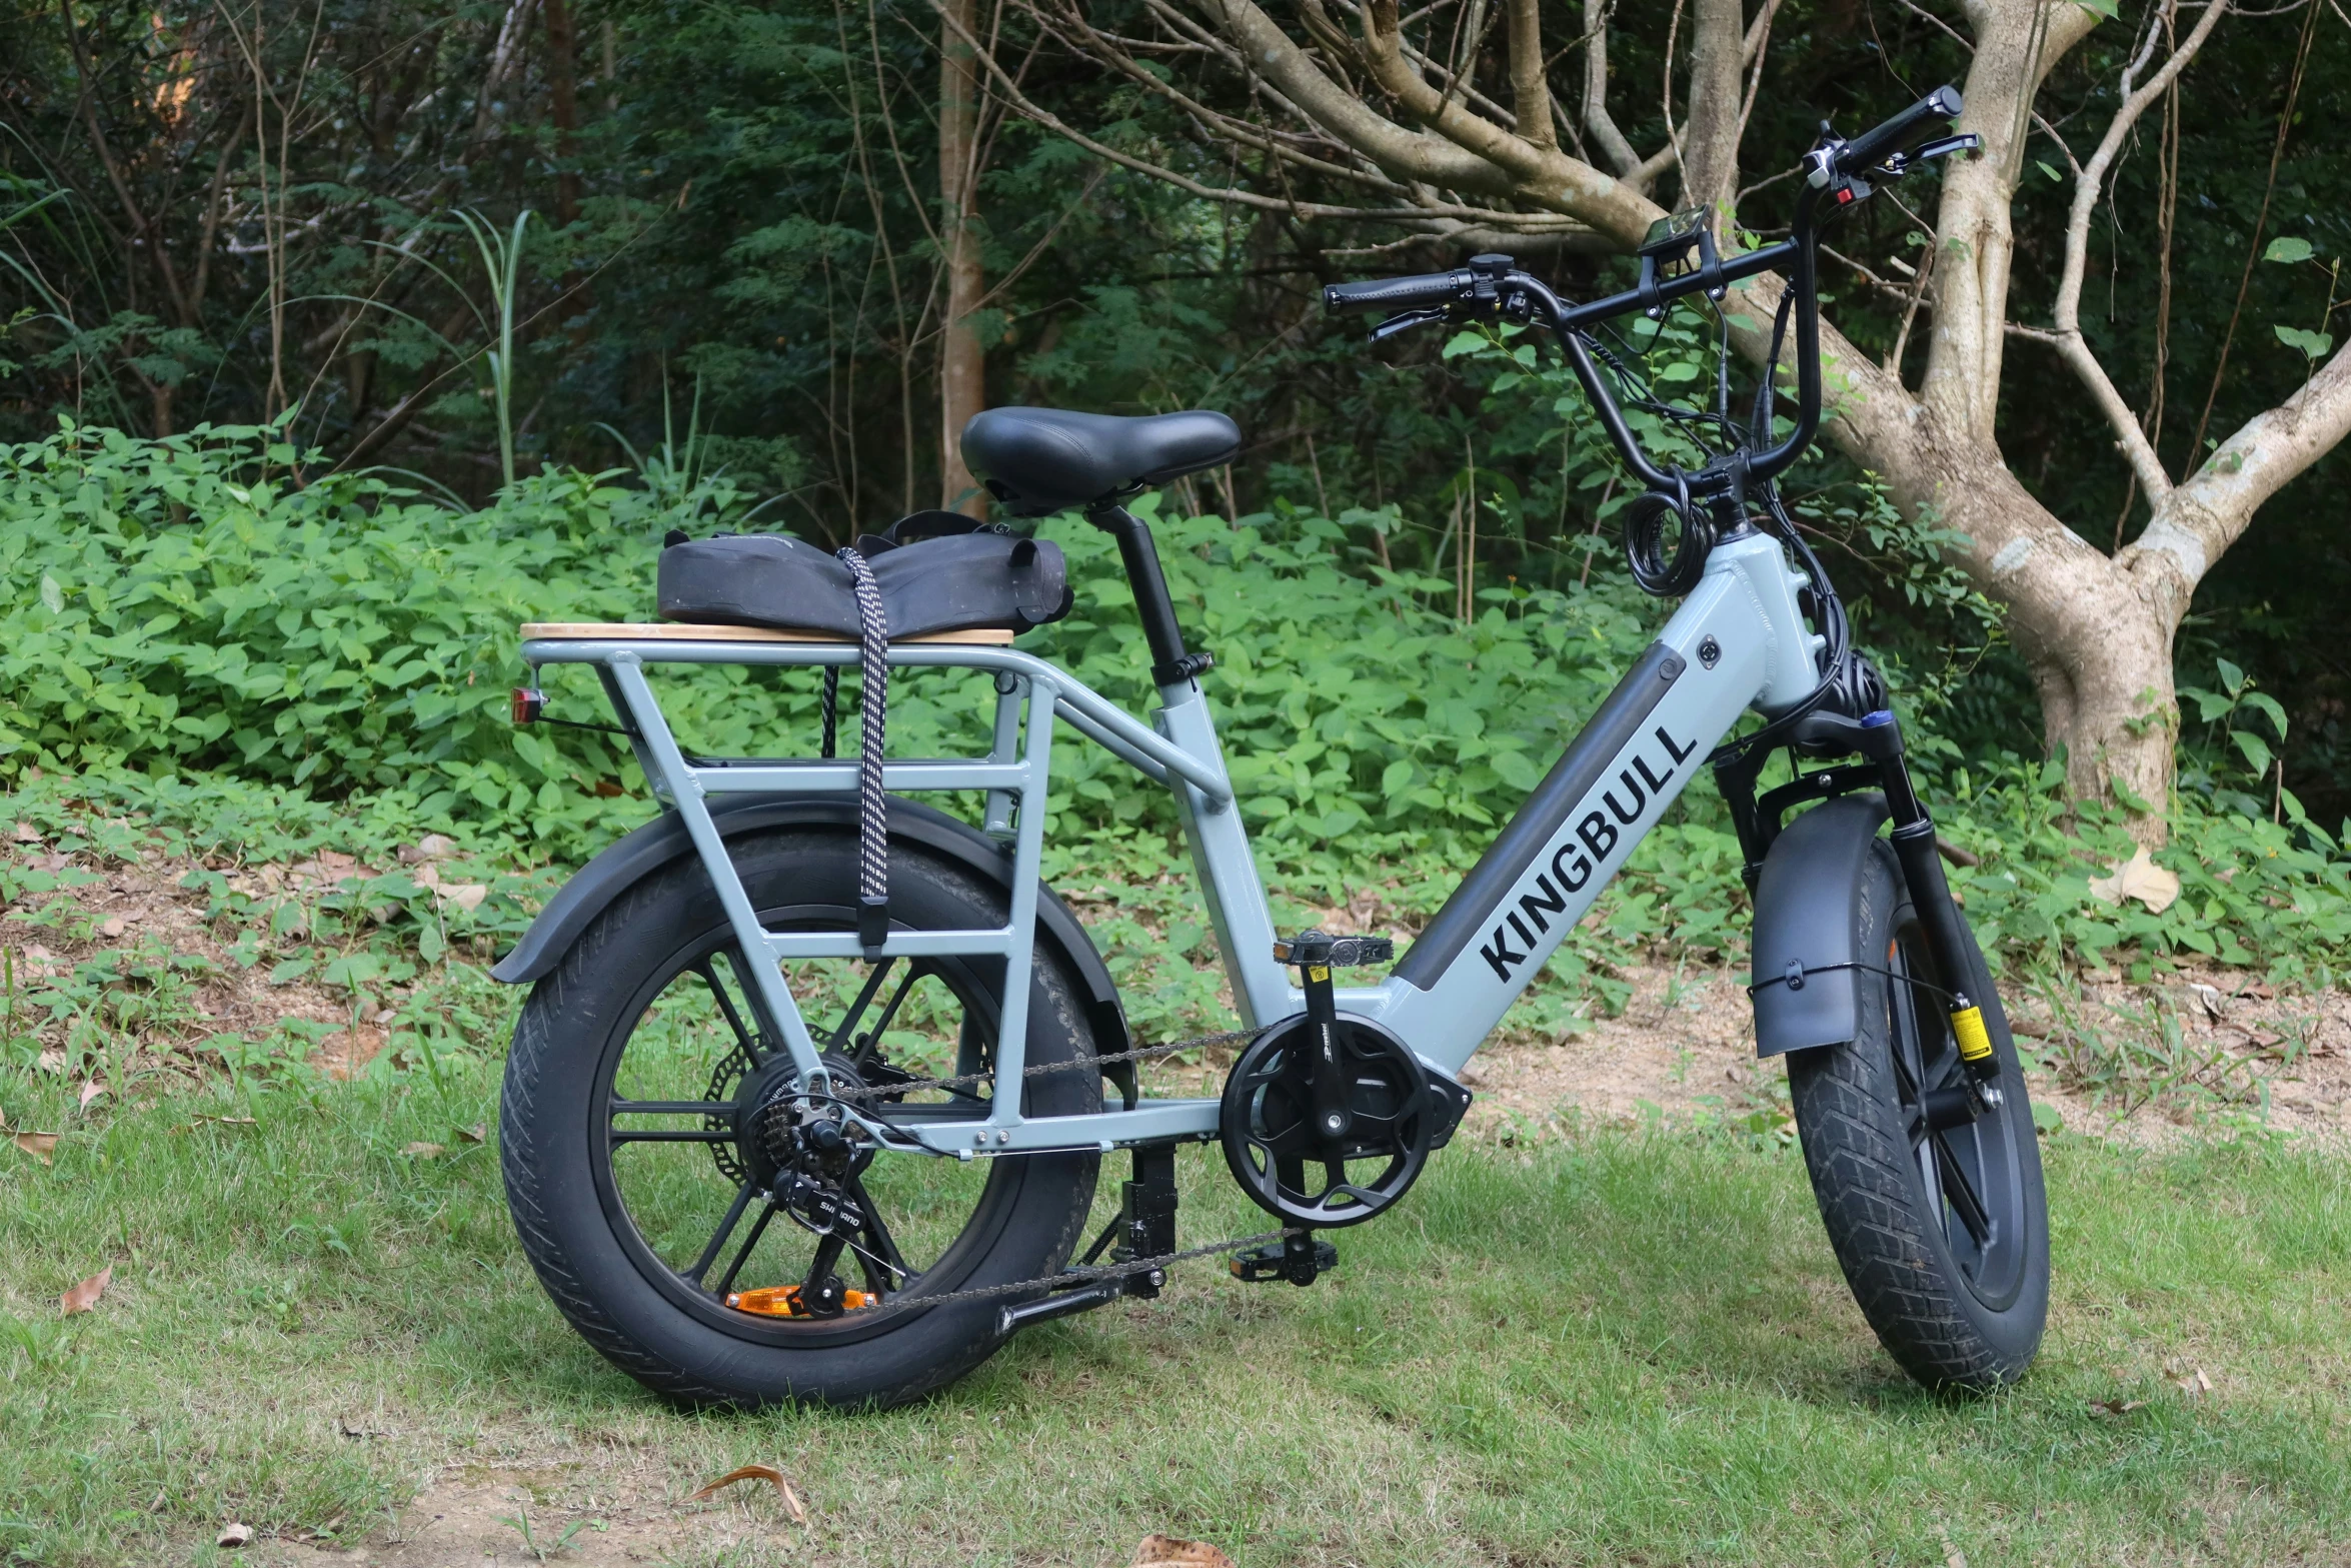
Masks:
[[[1147,418],[987,409],[964,425],[964,465],[1018,517],[1110,501],[1239,451],[1239,425],[1208,409]]]

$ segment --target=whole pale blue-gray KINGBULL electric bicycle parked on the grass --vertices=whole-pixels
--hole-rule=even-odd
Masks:
[[[1625,524],[1632,574],[1681,599],[1401,957],[1385,938],[1274,931],[1199,684],[1211,656],[1185,644],[1126,508],[1232,461],[1220,414],[992,409],[962,437],[1004,510],[1074,510],[1117,541],[1159,691],[1147,724],[1013,646],[1070,607],[1058,550],[952,515],[837,555],[672,534],[663,623],[524,628],[534,672],[595,670],[663,804],[494,969],[531,985],[501,1157],[557,1309],[679,1401],[886,1406],[1023,1324],[1157,1295],[1185,1258],[1307,1286],[1335,1265],[1331,1232],[1406,1197],[1469,1105],[1462,1065],[1712,766],[1754,893],[1756,1053],[1787,1058],[1855,1300],[1923,1385],[2020,1378],[2048,1307],[2027,1086],[1886,684],[1775,489],[1820,423],[1820,226],[1968,150],[1972,136],[1944,134],[1956,115],[1947,87],[1853,141],[1824,132],[1787,240],[1723,256],[1702,214],[1676,214],[1639,247],[1636,287],[1589,303],[1509,256],[1326,289],[1331,310],[1394,310],[1373,341],[1436,322],[1547,331],[1646,487]],[[1766,273],[1784,289],[1744,416],[1728,357],[1714,407],[1688,409],[1603,336],[1676,303],[1712,306],[1728,331],[1721,301]],[[1777,388],[1789,334],[1791,395]],[[1704,461],[1643,449],[1627,407],[1672,418]],[[818,755],[689,755],[656,665],[818,670]],[[992,682],[990,750],[886,757],[900,670]],[[846,672],[853,757],[839,755]],[[1761,724],[1728,738],[1747,715]],[[545,717],[534,675],[515,719]],[[1110,969],[1039,879],[1058,726],[1173,795],[1241,1023],[1220,1037],[1234,1046],[1220,1095],[1140,1091],[1138,1065],[1201,1041],[1133,1039]],[[1794,778],[1759,795],[1780,752]],[[983,802],[980,820],[922,792]],[[1223,1147],[1265,1232],[1178,1234],[1183,1143]],[[1119,1213],[1079,1253],[1100,1161],[1119,1152]]]

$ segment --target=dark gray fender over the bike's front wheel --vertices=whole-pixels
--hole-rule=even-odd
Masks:
[[[1756,1056],[1841,1046],[1862,1030],[1862,867],[1878,853],[1886,797],[1841,795],[1789,823],[1756,879]],[[1794,971],[1789,969],[1794,966]],[[1827,973],[1822,973],[1827,971]],[[1789,976],[1801,973],[1801,985]]]

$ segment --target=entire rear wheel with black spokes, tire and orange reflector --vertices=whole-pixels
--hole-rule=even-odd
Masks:
[[[729,842],[771,931],[853,931],[856,837]],[[900,929],[985,929],[1002,889],[891,851]],[[1077,987],[1039,947],[1027,1060],[1093,1053]],[[987,1086],[896,1091],[994,1060],[1002,959],[795,961],[792,994],[844,1088],[893,1119],[983,1119]],[[795,1074],[694,858],[625,891],[524,1001],[501,1140],[524,1253],[567,1319],[689,1403],[903,1403],[980,1363],[1002,1300],[926,1295],[1053,1274],[1098,1157],[940,1159],[842,1138]],[[1027,1079],[1027,1114],[1100,1110],[1084,1070]]]

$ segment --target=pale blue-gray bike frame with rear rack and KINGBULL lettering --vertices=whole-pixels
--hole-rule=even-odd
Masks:
[[[1632,846],[1657,825],[1707,752],[1740,715],[1782,712],[1820,682],[1822,639],[1806,628],[1796,590],[1806,585],[1782,545],[1763,534],[1721,541],[1697,590],[1683,599],[1657,644],[1617,696],[1594,717],[1615,738],[1599,755],[1568,748],[1561,769],[1533,797],[1540,816],[1502,830],[1465,891],[1474,907],[1453,905],[1422,933],[1422,945],[1453,945],[1427,973],[1411,954],[1385,983],[1338,992],[1345,1013],[1371,1018],[1411,1044],[1432,1067],[1453,1074],[1502,1020],[1528,980],[1625,865]],[[710,795],[856,797],[856,762],[752,759],[689,762],[644,677],[654,663],[853,665],[849,642],[698,642],[630,637],[536,637],[522,644],[529,665],[595,665],[614,708],[635,729],[632,745],[654,795],[672,806],[717,886],[757,999],[809,1086],[825,1070],[818,1044],[792,997],[783,964],[863,957],[851,931],[766,931],[710,818]],[[1154,724],[1091,691],[1041,658],[1009,646],[900,642],[893,668],[964,668],[994,675],[994,745],[985,759],[889,762],[893,792],[985,790],[985,827],[1011,837],[1011,910],[983,931],[891,931],[886,957],[1002,957],[1004,1011],[997,1027],[997,1093],[985,1103],[893,1105],[886,1121],[860,1117],[884,1147],[903,1152],[1034,1154],[1044,1150],[1114,1150],[1161,1138],[1213,1138],[1215,1100],[1140,1100],[1131,1110],[1084,1117],[1023,1117],[1018,1086],[1027,1065],[1030,976],[1037,952],[1037,886],[1044,858],[1044,802],[1051,778],[1053,719],[1067,722],[1140,773],[1168,785],[1199,870],[1201,898],[1223,950],[1232,997],[1248,1027],[1305,1006],[1288,971],[1274,961],[1274,924],[1265,884],[1248,851],[1239,799],[1225,771],[1208,703],[1194,682],[1159,689]],[[1648,689],[1655,682],[1655,689]],[[1643,686],[1643,689],[1634,689]],[[1027,710],[1023,724],[1023,705]],[[1582,785],[1582,788],[1578,788]],[[1620,799],[1622,797],[1622,799]],[[1533,802],[1531,802],[1533,804]],[[1547,835],[1542,830],[1549,830]],[[1458,896],[1453,903],[1462,903]],[[1439,929],[1455,933],[1451,943]],[[1467,936],[1460,936],[1467,933]],[[1491,936],[1488,936],[1491,933]],[[1483,938],[1483,940],[1481,940]],[[766,954],[766,961],[757,961]],[[1401,971],[1413,971],[1406,978]]]

